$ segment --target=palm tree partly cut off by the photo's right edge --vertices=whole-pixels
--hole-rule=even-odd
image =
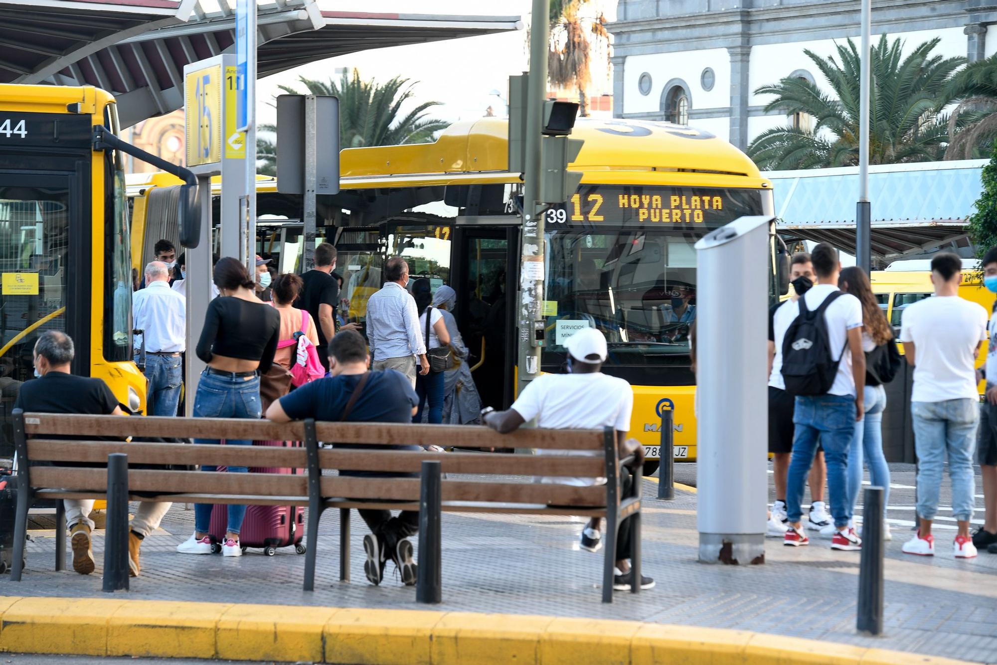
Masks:
[[[958,103],[948,117],[946,160],[987,157],[997,136],[997,54],[952,77],[938,107]]]

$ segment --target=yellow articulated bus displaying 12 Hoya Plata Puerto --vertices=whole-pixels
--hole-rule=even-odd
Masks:
[[[603,371],[633,386],[631,435],[657,458],[661,410],[672,407],[675,458],[693,460],[693,244],[741,215],[771,215],[772,184],[728,142],[687,127],[579,119],[572,137],[585,142],[571,165],[583,177],[577,193],[546,213],[542,369],[563,366],[559,342],[572,327],[599,328],[610,347]],[[345,150],[341,191],[319,196],[317,215],[317,241],[339,249],[348,320],[363,322],[389,255],[403,255],[413,278],[457,291],[476,384],[496,408],[513,398],[518,338],[522,180],[507,170],[506,142],[506,120],[483,118],[450,127],[433,144]],[[138,201],[168,182],[137,176],[132,190]],[[282,272],[301,269],[300,209],[300,196],[277,193],[272,178],[257,180],[257,250]],[[148,223],[162,230],[145,234],[143,259],[168,232],[159,220]],[[774,270],[773,297],[778,281]]]

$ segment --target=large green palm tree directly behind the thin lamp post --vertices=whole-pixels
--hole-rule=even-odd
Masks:
[[[964,58],[932,56],[941,41],[924,42],[906,58],[903,43],[886,41],[872,48],[869,91],[869,163],[895,164],[940,160],[948,141],[937,99]],[[762,86],[759,95],[775,95],[766,111],[806,114],[814,126],[777,127],[762,133],[748,148],[748,155],[762,168],[819,168],[858,164],[858,80],[860,55],[849,39],[837,45],[837,56],[807,56],[821,70],[834,91],[830,96],[804,79],[787,77]],[[836,97],[836,99],[835,99]],[[799,117],[799,116],[797,116]]]

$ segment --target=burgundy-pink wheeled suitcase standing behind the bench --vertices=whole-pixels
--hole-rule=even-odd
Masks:
[[[222,442],[224,443],[224,442]],[[275,446],[299,448],[300,442],[296,441],[254,441],[253,446]],[[218,471],[222,471],[219,467]],[[282,468],[250,468],[250,474],[302,474],[301,469]],[[227,505],[216,503],[211,510],[211,525],[209,533],[213,540],[221,542],[225,536],[228,526]],[[239,532],[239,543],[243,551],[246,547],[260,547],[267,556],[277,553],[277,547],[289,547],[294,545],[294,550],[299,554],[305,553],[305,546],[301,542],[305,534],[305,510],[297,505],[249,505],[246,507],[246,516],[242,520],[242,529]],[[216,546],[216,551],[221,551],[221,546]]]

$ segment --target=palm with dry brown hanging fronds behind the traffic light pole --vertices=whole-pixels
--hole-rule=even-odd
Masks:
[[[585,88],[592,81],[591,42],[606,47],[608,55],[609,33],[606,19],[599,14],[595,19],[585,19],[578,10],[589,0],[550,0],[550,50],[547,52],[547,80],[555,88],[578,89],[578,106],[581,116],[588,116]],[[589,26],[586,28],[585,24]],[[587,34],[586,34],[587,33]]]

